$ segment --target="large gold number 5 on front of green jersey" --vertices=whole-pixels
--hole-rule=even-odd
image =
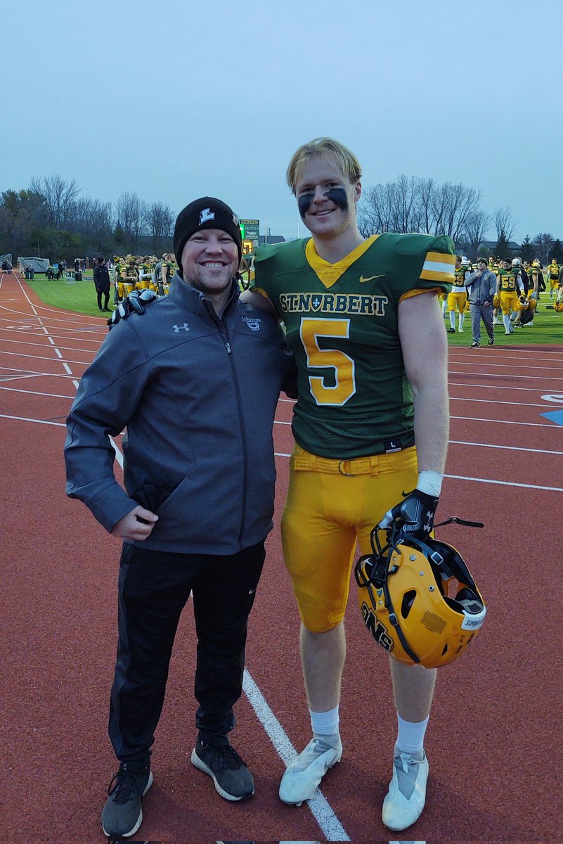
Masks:
[[[349,338],[350,320],[303,317],[299,334],[307,354],[308,369],[335,371],[334,387],[327,386],[326,375],[309,376],[309,387],[315,402],[335,406],[346,404],[356,392],[354,361],[339,349],[320,349],[319,338]]]

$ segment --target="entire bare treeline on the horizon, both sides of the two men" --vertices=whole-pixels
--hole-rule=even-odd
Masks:
[[[116,203],[105,203],[79,197],[80,191],[74,179],[44,176],[33,179],[27,190],[0,194],[0,254],[12,252],[15,258],[40,253],[55,261],[72,261],[96,255],[158,255],[172,248],[175,214],[169,205],[146,203],[128,192]],[[458,252],[471,260],[491,251],[510,257],[516,229],[510,208],[486,214],[475,188],[416,176],[399,176],[364,190],[358,221],[365,237],[381,231],[449,235]],[[496,237],[487,240],[491,231]],[[549,232],[526,235],[518,247],[523,259],[563,261],[563,247]]]

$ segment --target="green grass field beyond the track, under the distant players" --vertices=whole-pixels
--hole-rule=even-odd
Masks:
[[[101,317],[98,310],[96,291],[92,279],[92,270],[86,273],[83,281],[74,284],[67,284],[62,279],[49,281],[44,275],[35,275],[33,281],[28,281],[31,289],[40,297],[46,305],[63,308],[65,311],[76,311],[81,314],[88,314],[90,317]],[[110,307],[113,302],[113,288],[110,290]],[[517,328],[510,337],[504,333],[504,326],[495,327],[495,340],[499,346],[521,346],[536,344],[563,344],[563,313],[556,313],[547,306],[550,300],[546,294],[539,302],[538,310],[534,317],[534,327]],[[456,316],[456,326],[458,317]],[[444,320],[444,325],[449,327],[449,317]],[[486,344],[487,336],[485,328],[481,324],[481,343]],[[469,313],[465,316],[464,333],[448,334],[450,346],[469,346],[471,343],[471,321]]]

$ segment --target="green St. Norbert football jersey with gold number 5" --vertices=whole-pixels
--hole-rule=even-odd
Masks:
[[[374,235],[337,264],[310,238],[259,248],[255,288],[285,323],[298,366],[300,446],[344,460],[413,444],[397,309],[416,290],[446,293],[454,264],[446,236]]]

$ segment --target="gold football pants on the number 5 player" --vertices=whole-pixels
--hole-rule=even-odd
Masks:
[[[294,447],[281,544],[308,630],[322,633],[344,618],[356,544],[371,553],[373,527],[415,489],[417,467],[415,446],[343,461]]]

